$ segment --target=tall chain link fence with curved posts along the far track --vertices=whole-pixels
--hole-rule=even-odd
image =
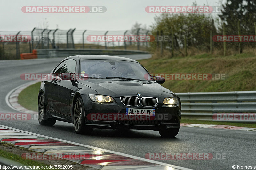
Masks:
[[[24,35],[27,41],[6,41],[3,36]],[[118,31],[40,29],[31,31],[0,31],[0,60],[20,59],[21,53],[32,53],[33,49],[129,49],[148,50],[148,42],[132,41],[92,41],[88,37],[95,36],[129,36],[150,35],[149,30],[142,28]]]

